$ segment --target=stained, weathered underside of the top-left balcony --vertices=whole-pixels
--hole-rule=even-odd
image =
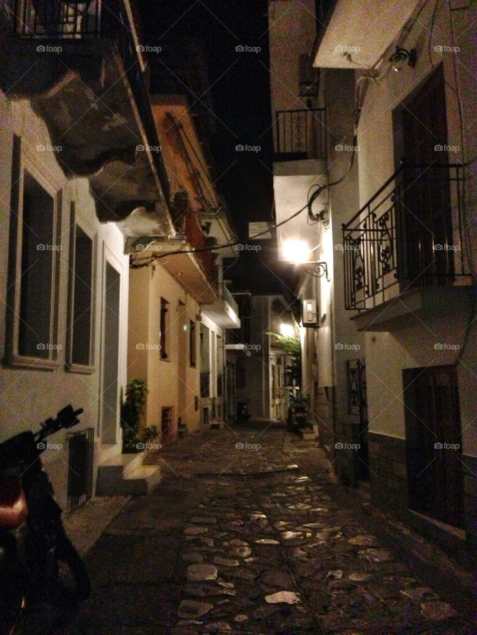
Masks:
[[[114,43],[10,36],[4,51],[1,89],[9,98],[29,98],[51,145],[61,147],[57,160],[65,175],[88,178],[98,219],[124,221],[129,236],[173,234],[152,157],[160,149],[137,149],[149,143]]]

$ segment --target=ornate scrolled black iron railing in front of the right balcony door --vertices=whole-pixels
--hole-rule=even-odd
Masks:
[[[342,225],[346,309],[410,288],[470,284],[463,202],[462,164],[403,164]]]

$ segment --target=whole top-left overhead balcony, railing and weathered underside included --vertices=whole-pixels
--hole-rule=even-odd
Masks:
[[[144,47],[129,0],[6,4],[1,90],[30,100],[51,144],[62,147],[65,174],[88,177],[99,220],[120,222],[130,236],[173,234]]]

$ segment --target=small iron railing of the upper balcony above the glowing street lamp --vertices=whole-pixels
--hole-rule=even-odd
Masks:
[[[325,109],[277,110],[275,154],[281,161],[326,158]]]

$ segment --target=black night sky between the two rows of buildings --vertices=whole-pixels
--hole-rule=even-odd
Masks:
[[[215,136],[209,135],[217,175],[239,237],[248,222],[272,221],[272,131],[269,97],[269,51],[266,0],[137,0],[143,44],[161,45],[188,37],[205,46],[209,89],[196,94],[215,114]],[[236,46],[260,47],[238,52]],[[163,58],[166,59],[166,58]],[[168,65],[174,60],[168,61]],[[151,58],[154,73],[154,58]],[[187,63],[193,65],[194,59]],[[158,65],[158,62],[156,62]],[[161,65],[162,70],[164,67]],[[159,86],[158,86],[159,88]],[[159,88],[160,90],[160,88]],[[212,96],[212,102],[210,98]],[[206,111],[208,112],[208,111]],[[237,152],[236,145],[260,146],[259,152]],[[272,241],[260,241],[257,255],[242,253],[225,277],[236,288],[285,291],[293,288],[289,265],[279,264]]]

